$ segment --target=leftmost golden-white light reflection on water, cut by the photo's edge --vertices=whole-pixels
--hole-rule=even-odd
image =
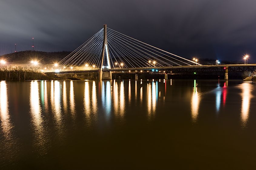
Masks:
[[[10,137],[10,135],[8,134],[12,129],[12,125],[10,123],[7,85],[5,81],[0,82],[0,112],[1,112],[1,127],[3,130],[3,133],[5,137]]]

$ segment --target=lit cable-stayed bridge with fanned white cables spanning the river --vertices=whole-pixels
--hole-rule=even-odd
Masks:
[[[107,25],[62,59],[58,65],[59,73],[99,72],[99,79],[111,79],[113,71],[133,73],[224,72],[225,79],[228,79],[228,68],[234,68],[232,69],[234,72],[256,69],[256,64],[201,65],[196,60],[192,61],[161,50],[108,28]]]

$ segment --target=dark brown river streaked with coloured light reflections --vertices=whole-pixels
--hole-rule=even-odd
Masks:
[[[255,84],[0,82],[0,169],[251,169]]]

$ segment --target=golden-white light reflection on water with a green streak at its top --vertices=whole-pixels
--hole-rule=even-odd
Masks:
[[[191,98],[191,113],[192,113],[192,120],[194,122],[196,122],[198,117],[199,103],[200,103],[200,96],[198,95],[198,87],[197,87],[196,80],[194,80],[193,94]]]

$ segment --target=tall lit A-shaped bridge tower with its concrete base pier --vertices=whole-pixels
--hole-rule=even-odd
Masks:
[[[107,65],[103,66],[104,59],[105,59],[105,53],[107,58]],[[111,69],[110,65],[110,55],[108,50],[108,41],[107,41],[107,24],[104,24],[104,37],[103,37],[103,46],[102,46],[102,52],[101,52],[102,60],[101,60],[101,68],[99,72],[99,80],[111,80],[112,74],[111,71],[102,71],[103,69]]]

